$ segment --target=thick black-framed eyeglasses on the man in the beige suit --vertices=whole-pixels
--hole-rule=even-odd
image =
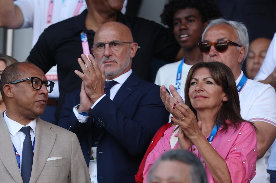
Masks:
[[[42,84],[45,84],[45,86],[46,86],[49,93],[51,93],[54,89],[54,84],[55,83],[53,81],[49,81],[49,80],[42,81],[40,78],[37,78],[37,77],[25,78],[25,79],[22,79],[22,80],[10,82],[8,84],[20,83],[20,82],[26,81],[26,80],[31,80],[32,87],[35,90],[40,90],[42,88]]]

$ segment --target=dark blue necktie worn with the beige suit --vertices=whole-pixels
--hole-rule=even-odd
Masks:
[[[22,149],[21,176],[23,183],[29,183],[33,166],[33,145],[30,134],[31,127],[22,127],[20,130],[25,133],[25,140]]]

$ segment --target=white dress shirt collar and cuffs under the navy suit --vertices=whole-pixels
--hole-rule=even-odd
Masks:
[[[121,88],[121,86],[124,84],[124,82],[128,79],[128,77],[131,75],[132,73],[132,69],[130,69],[128,72],[120,75],[119,77],[117,78],[114,78],[113,81],[117,81],[118,83],[115,84],[111,89],[110,89],[110,99],[113,100],[115,95],[117,94],[118,90]],[[105,81],[110,81],[110,80],[105,80]],[[94,106],[97,105],[97,103],[102,100],[102,98],[105,96],[106,94],[103,94],[92,106],[91,106],[91,109],[94,108]],[[79,122],[81,123],[85,123],[88,121],[89,117],[90,116],[83,116],[83,115],[80,115],[78,113],[78,111],[75,109],[75,107],[73,107],[73,112],[76,116],[76,118],[79,120]]]

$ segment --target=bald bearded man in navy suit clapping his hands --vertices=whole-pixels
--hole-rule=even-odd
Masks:
[[[168,121],[159,86],[132,72],[137,47],[126,25],[107,22],[95,34],[95,59],[78,59],[82,86],[67,95],[59,126],[77,134],[92,182],[134,183],[150,140]]]

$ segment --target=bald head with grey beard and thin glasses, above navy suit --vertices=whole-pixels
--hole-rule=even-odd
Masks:
[[[126,25],[107,22],[96,32],[92,52],[99,66],[104,64],[105,77],[112,80],[131,69],[137,48]]]

